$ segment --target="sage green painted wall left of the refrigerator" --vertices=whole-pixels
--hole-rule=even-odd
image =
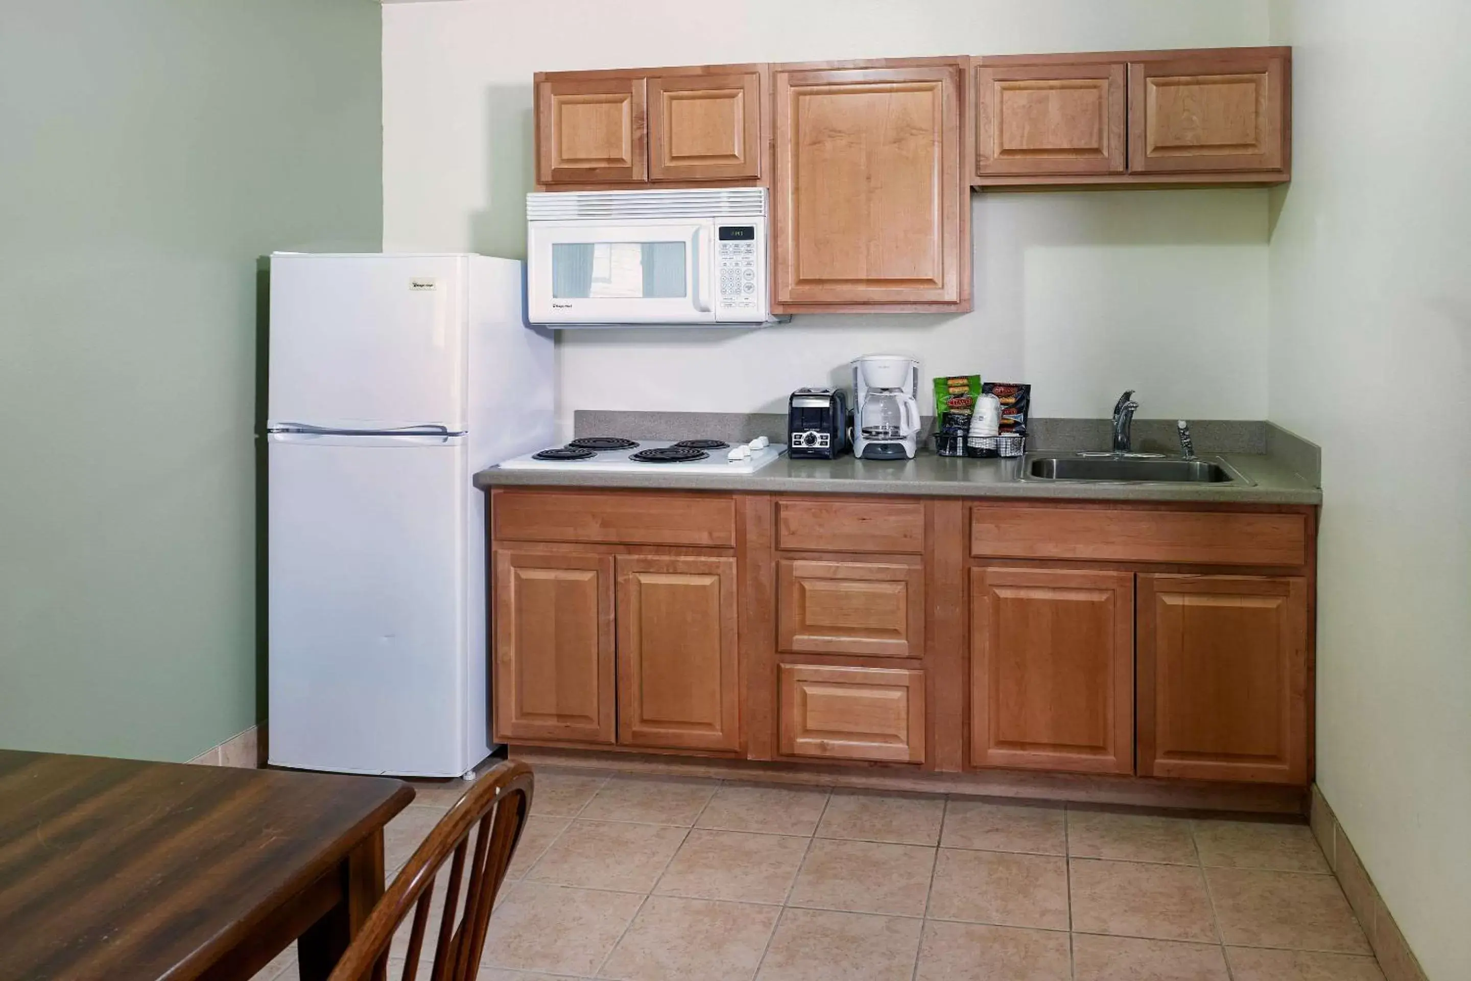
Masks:
[[[0,0],[0,746],[257,706],[257,257],[382,238],[372,0]]]

